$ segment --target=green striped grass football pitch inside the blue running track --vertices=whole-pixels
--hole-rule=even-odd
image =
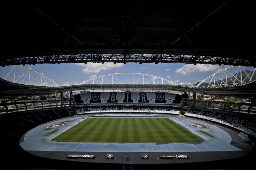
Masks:
[[[166,118],[88,118],[52,139],[59,142],[200,142]]]

